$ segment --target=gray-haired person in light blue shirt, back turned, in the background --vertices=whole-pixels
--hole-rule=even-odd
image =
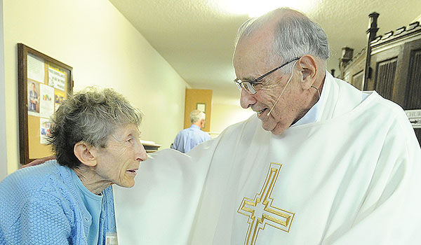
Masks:
[[[182,153],[188,153],[194,146],[210,139],[210,135],[201,130],[205,126],[205,113],[193,110],[190,113],[190,122],[192,122],[192,125],[189,128],[178,132],[171,148]]]

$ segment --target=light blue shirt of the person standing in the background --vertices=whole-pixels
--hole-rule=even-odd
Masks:
[[[192,124],[189,128],[181,130],[174,139],[171,148],[188,153],[194,146],[201,144],[203,141],[211,139],[210,135],[200,130],[200,127]]]

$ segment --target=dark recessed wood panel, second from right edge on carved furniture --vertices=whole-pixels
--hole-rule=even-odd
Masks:
[[[377,62],[375,76],[375,90],[385,97],[392,99],[397,58]]]

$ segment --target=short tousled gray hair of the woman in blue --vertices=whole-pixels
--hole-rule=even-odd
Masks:
[[[130,124],[139,127],[142,113],[112,89],[88,87],[65,99],[51,120],[48,142],[58,163],[73,169],[81,165],[74,155],[77,142],[105,148],[117,127]]]

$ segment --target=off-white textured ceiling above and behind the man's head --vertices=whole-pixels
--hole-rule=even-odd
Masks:
[[[229,13],[229,0],[109,0],[193,88],[238,97],[232,80],[234,36],[245,14]],[[256,4],[265,0],[254,1]],[[246,0],[240,1],[245,4]],[[272,0],[272,2],[274,2]],[[277,0],[279,6],[292,1]],[[420,0],[295,0],[295,9],[318,22],[330,42],[328,69],[338,69],[342,47],[366,45],[368,14],[380,13],[377,35],[409,25]],[[338,70],[337,70],[338,72]],[[338,74],[338,73],[337,73]]]

